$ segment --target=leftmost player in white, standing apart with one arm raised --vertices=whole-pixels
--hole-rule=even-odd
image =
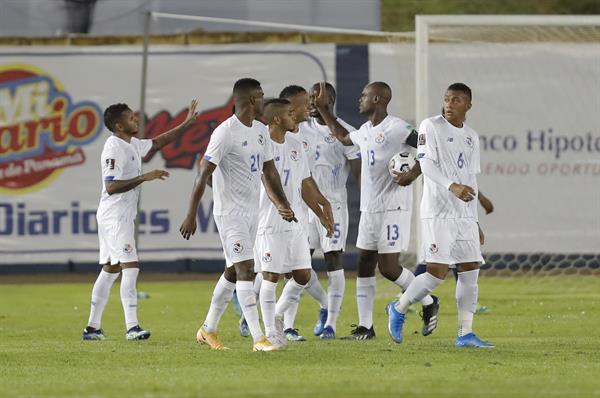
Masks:
[[[152,140],[137,139],[138,118],[126,104],[113,104],[104,111],[104,124],[112,135],[102,149],[102,194],[96,212],[102,270],[92,289],[92,304],[84,340],[104,340],[102,313],[110,288],[121,274],[121,302],[125,312],[127,340],[145,340],[150,332],[137,318],[137,277],[140,272],[135,244],[135,218],[141,187],[145,181],[164,180],[169,173],[152,170],[142,174],[142,158],[178,139],[196,120],[197,102],[190,104],[183,123]]]

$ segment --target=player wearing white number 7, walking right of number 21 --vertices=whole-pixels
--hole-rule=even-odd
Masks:
[[[311,183],[308,160],[302,144],[286,133],[296,127],[289,101],[273,99],[265,104],[265,120],[269,125],[275,167],[281,176],[286,197],[295,213],[302,202],[314,212],[326,234],[333,234],[333,219],[329,219],[319,202],[327,202]],[[297,304],[304,286],[311,276],[310,248],[305,226],[286,223],[279,217],[269,199],[269,189],[261,189],[258,234],[254,246],[257,272],[262,272],[260,306],[267,338],[276,347],[287,344],[284,335],[283,314],[290,305]],[[330,208],[330,205],[327,204]],[[275,289],[281,274],[291,272],[281,298],[275,302]]]

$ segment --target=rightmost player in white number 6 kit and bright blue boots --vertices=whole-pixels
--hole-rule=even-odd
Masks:
[[[444,94],[444,114],[425,119],[419,128],[417,158],[424,176],[421,201],[423,250],[427,272],[415,278],[400,300],[388,304],[388,329],[402,342],[406,311],[439,286],[456,264],[458,337],[456,347],[494,347],[472,330],[477,306],[480,244],[483,231],[477,217],[479,136],[465,124],[471,109],[471,89],[451,84]]]

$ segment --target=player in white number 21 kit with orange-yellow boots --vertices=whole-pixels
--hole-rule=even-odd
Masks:
[[[213,292],[198,342],[223,350],[218,324],[235,289],[253,338],[254,351],[272,351],[258,320],[254,280],[254,241],[258,227],[261,176],[273,193],[277,211],[286,221],[296,221],[273,162],[266,126],[256,120],[263,111],[264,93],[255,79],[244,78],[233,86],[235,114],[213,131],[179,229],[185,239],[196,231],[198,204],[212,176],[213,216],[223,244],[227,268]]]

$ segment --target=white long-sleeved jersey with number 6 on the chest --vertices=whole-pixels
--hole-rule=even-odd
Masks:
[[[481,172],[479,151],[479,136],[466,124],[454,127],[442,115],[421,122],[417,158],[433,161],[450,181],[476,192],[477,174]],[[477,219],[477,200],[463,202],[425,176],[421,218]]]

